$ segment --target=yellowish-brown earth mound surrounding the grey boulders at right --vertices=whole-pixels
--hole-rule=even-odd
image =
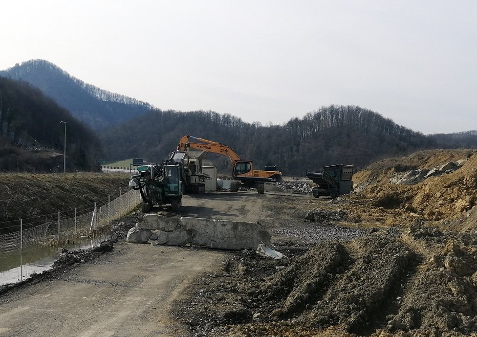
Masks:
[[[452,160],[459,160],[460,168],[449,174],[430,176],[415,185],[390,183],[398,172],[405,172],[406,169],[429,168]],[[366,206],[369,204],[374,208],[371,212],[363,209],[357,212],[372,213],[379,218],[378,213],[385,211],[393,214],[394,218],[403,218],[407,224],[413,223],[416,218],[424,221],[456,219],[477,203],[477,151],[420,151],[405,158],[370,165],[365,171],[356,174],[354,180],[360,183],[360,187],[343,198],[351,202],[365,200]],[[384,223],[393,224],[389,217]]]

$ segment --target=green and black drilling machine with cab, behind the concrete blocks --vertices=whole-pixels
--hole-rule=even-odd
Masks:
[[[151,211],[154,205],[170,204],[175,211],[182,206],[181,165],[138,166],[138,174],[131,177],[129,186],[141,193],[143,212]]]

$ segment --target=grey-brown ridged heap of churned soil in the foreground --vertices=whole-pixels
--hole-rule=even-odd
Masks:
[[[287,260],[252,252],[191,288],[176,307],[191,335],[477,333],[477,239],[415,226],[322,242]]]

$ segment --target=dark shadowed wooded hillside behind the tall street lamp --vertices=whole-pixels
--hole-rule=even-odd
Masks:
[[[25,81],[0,77],[0,171],[63,170],[67,122],[67,170],[98,169],[95,133]]]

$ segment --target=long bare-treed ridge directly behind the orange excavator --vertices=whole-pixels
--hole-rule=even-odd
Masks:
[[[226,144],[258,167],[277,165],[284,174],[297,176],[326,165],[363,168],[373,161],[420,149],[462,147],[463,140],[465,147],[477,147],[477,136],[472,134],[425,136],[374,111],[335,105],[272,126],[250,124],[212,111],[154,110],[106,130],[101,139],[107,159],[140,157],[161,162],[184,134]],[[228,172],[225,157],[214,160],[222,172]]]

